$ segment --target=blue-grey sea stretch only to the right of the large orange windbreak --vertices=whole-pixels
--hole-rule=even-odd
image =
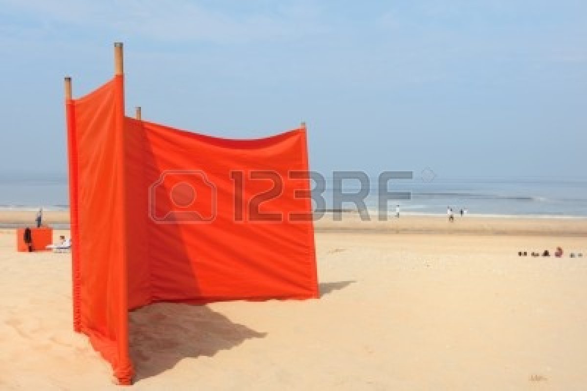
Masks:
[[[323,198],[327,208],[338,209],[340,193],[359,190],[358,183],[336,187],[327,182]],[[395,214],[399,205],[400,213],[407,215],[446,215],[451,208],[455,214],[462,209],[480,217],[587,217],[587,178],[402,179],[391,181],[387,191],[400,193],[395,200],[387,201],[389,215]],[[379,193],[379,188],[372,186],[365,198],[370,212],[379,209]]]

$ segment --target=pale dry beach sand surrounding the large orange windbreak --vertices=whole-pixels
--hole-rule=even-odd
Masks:
[[[587,252],[585,220],[499,221],[418,235],[321,222],[320,300],[134,311],[127,389],[587,389],[587,258],[517,256]],[[0,389],[120,389],[72,330],[70,255],[15,241],[0,231]]]

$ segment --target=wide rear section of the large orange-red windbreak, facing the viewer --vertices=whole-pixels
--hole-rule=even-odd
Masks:
[[[308,170],[305,129],[228,140],[126,118],[125,134],[133,200],[130,308],[156,301],[318,297],[312,221],[289,218],[289,212],[311,211],[309,199],[295,198],[295,191],[309,189],[308,180],[288,176]],[[281,221],[247,221],[247,212],[245,221],[235,221],[234,170],[245,177],[245,203],[272,187],[269,179],[249,179],[255,170],[282,179],[281,194],[259,207],[280,212]],[[181,197],[190,195],[182,194],[182,183],[197,194],[189,207],[182,206]],[[194,212],[211,221],[194,222]]]

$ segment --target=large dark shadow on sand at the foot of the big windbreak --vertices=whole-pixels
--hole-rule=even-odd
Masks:
[[[247,339],[266,336],[207,306],[157,303],[129,315],[134,381],[167,371],[183,358],[211,357]]]

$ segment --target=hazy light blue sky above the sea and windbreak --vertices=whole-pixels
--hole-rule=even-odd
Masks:
[[[66,172],[124,43],[126,111],[227,138],[308,125],[311,169],[587,178],[587,2],[0,0],[0,174]]]

